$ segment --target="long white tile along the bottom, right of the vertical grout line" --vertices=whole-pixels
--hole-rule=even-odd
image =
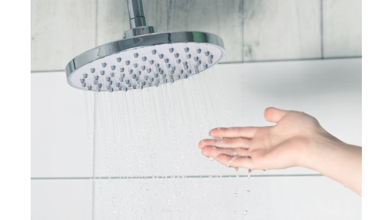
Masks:
[[[241,177],[236,185],[216,177],[95,180],[95,219],[361,218],[361,197],[324,176],[251,177],[249,188]]]

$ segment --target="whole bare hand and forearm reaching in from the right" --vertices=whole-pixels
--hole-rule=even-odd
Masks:
[[[215,139],[200,141],[202,154],[227,167],[254,170],[304,167],[349,187],[362,196],[362,148],[328,133],[305,113],[268,107],[266,127],[214,128]]]

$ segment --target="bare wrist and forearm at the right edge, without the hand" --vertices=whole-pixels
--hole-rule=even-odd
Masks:
[[[362,148],[329,133],[312,137],[304,167],[320,172],[362,196]]]

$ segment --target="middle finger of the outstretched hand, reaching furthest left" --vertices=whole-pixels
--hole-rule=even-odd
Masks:
[[[205,139],[199,142],[199,148],[214,146],[220,148],[246,148],[249,149],[251,140],[245,138],[237,139]]]

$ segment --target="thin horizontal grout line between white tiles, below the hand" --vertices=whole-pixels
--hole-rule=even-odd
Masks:
[[[322,174],[277,174],[277,175],[252,175],[252,177],[301,177],[301,176],[324,176]],[[128,177],[128,176],[118,176],[118,177],[95,177],[94,180],[99,179],[164,179],[164,178],[217,178],[220,176],[145,176],[145,177]],[[236,177],[236,175],[222,175],[222,177]],[[239,177],[248,177],[248,175],[239,175]],[[30,180],[64,180],[64,179],[91,179],[92,177],[36,177],[30,178]]]

